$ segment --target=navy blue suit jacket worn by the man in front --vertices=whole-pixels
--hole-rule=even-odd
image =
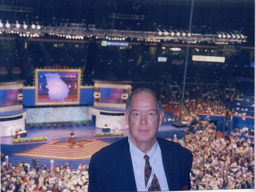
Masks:
[[[128,137],[97,151],[89,164],[89,192],[137,191]],[[176,142],[157,138],[169,191],[190,190],[191,151]]]

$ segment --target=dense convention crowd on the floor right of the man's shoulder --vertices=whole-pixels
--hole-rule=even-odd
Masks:
[[[208,123],[176,142],[193,152],[193,190],[255,188],[254,139],[216,132]]]

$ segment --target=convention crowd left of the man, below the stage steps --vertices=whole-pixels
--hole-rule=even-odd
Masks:
[[[20,162],[12,166],[1,161],[1,191],[87,191],[87,164],[80,164],[76,170],[71,170],[68,163],[50,168],[38,165]]]

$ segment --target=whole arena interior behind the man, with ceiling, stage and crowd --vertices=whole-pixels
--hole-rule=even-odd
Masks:
[[[2,0],[1,191],[87,191],[137,87],[191,190],[255,190],[255,1]]]

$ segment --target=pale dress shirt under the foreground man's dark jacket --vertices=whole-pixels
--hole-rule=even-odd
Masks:
[[[132,143],[130,137],[128,137],[128,141],[130,153],[132,156],[132,166],[134,169],[137,191],[147,191],[144,182],[144,167],[146,163],[144,159],[145,154]],[[159,180],[161,191],[169,191],[166,174],[164,172],[161,149],[157,141],[152,149],[150,149],[150,151],[147,153],[147,155],[149,156],[149,164],[152,167],[152,172],[156,174]]]

